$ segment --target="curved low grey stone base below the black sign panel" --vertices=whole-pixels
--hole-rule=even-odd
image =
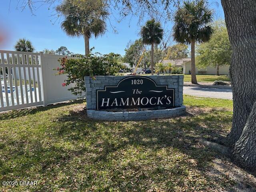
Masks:
[[[92,119],[106,121],[131,121],[131,120],[147,120],[177,117],[185,114],[186,107],[184,105],[172,109],[147,110],[147,111],[126,111],[126,112],[107,112],[87,109],[87,116]]]

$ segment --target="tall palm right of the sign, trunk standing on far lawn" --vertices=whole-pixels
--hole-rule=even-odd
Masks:
[[[174,14],[174,40],[182,44],[191,44],[191,82],[197,84],[195,43],[206,42],[210,39],[213,28],[213,10],[208,7],[206,0],[184,1]]]

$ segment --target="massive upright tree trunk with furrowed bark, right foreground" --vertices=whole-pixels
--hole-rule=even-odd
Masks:
[[[242,132],[256,100],[256,1],[221,0],[221,2],[233,50],[230,79],[234,113],[228,139],[234,145],[238,139],[240,142],[245,141],[244,137],[250,134],[242,135]],[[248,130],[250,129],[247,128],[244,132]],[[234,154],[237,153],[236,149]],[[245,156],[242,160],[245,160]]]

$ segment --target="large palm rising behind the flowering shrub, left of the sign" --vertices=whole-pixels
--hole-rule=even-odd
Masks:
[[[106,18],[108,12],[105,10],[101,0],[86,0],[75,4],[70,0],[64,0],[56,11],[64,16],[61,28],[68,36],[83,36],[85,54],[90,54],[89,39],[92,35],[97,38],[106,32]]]

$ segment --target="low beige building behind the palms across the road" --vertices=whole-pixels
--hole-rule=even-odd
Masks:
[[[183,58],[176,60],[163,60],[162,63],[172,63],[175,67],[183,67],[183,74],[191,74],[191,58]],[[207,67],[205,69],[196,68],[196,74],[204,74],[204,75],[216,75],[216,67]],[[220,75],[228,75],[229,66],[220,66],[219,74]]]

